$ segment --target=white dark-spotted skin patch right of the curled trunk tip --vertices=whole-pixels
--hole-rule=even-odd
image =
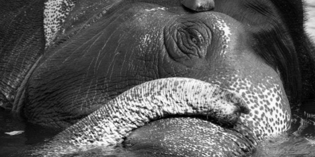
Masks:
[[[253,84],[251,79],[251,76],[241,79],[234,75],[227,81],[229,89],[239,93],[250,109],[248,115],[241,115],[242,125],[249,127],[258,140],[289,129],[291,111],[280,85],[270,76],[262,78],[263,83],[258,84]],[[223,81],[211,82],[222,84]]]

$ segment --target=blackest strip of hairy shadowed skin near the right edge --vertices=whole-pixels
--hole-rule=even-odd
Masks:
[[[315,46],[305,32],[306,0],[271,0],[280,11],[297,56],[301,79],[300,103],[315,97]],[[292,73],[293,75],[297,73]]]

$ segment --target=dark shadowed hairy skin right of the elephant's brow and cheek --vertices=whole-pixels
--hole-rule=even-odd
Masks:
[[[226,5],[228,8],[223,12],[243,23],[252,35],[252,48],[279,73],[290,104],[297,105],[315,97],[315,51],[304,31],[304,1],[235,0],[231,3],[233,7]]]

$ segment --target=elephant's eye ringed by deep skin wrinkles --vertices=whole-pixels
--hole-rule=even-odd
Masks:
[[[189,59],[204,58],[211,41],[211,32],[206,26],[186,22],[164,29],[165,48],[171,59],[192,66]],[[194,60],[195,61],[195,60]]]

